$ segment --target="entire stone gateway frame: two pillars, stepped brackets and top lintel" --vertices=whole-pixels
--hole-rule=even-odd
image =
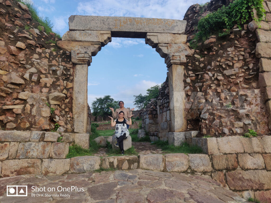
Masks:
[[[76,133],[87,132],[88,66],[111,37],[145,38],[165,59],[169,70],[170,133],[186,130],[183,74],[186,55],[186,21],[159,18],[80,16],[69,17],[69,31],[57,45],[71,52],[76,64],[73,84],[73,122]]]

